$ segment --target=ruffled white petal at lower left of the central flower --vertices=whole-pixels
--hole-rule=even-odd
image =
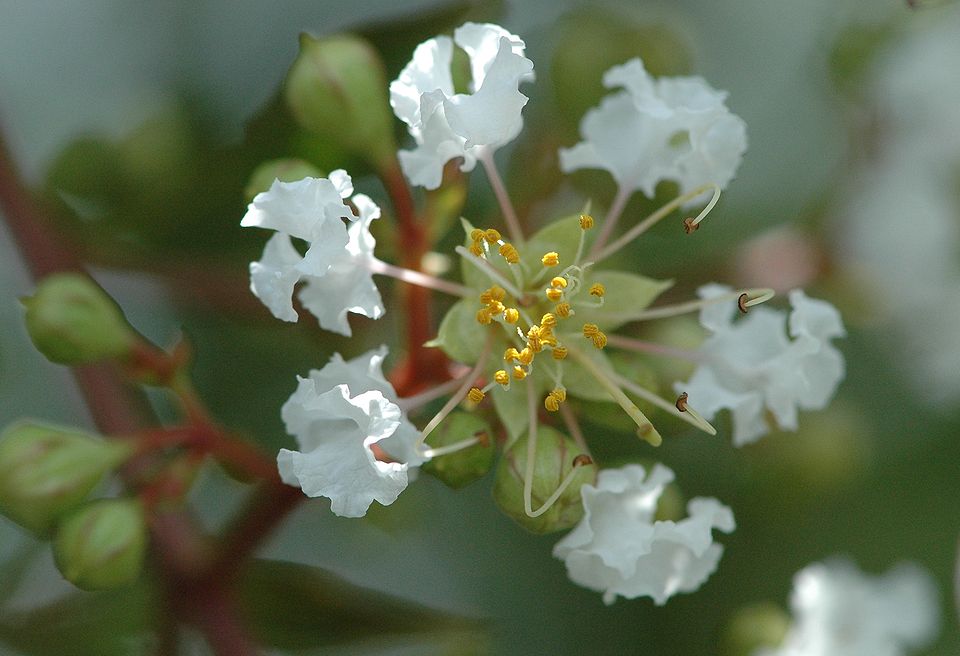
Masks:
[[[393,503],[409,469],[423,462],[419,431],[395,403],[383,377],[386,347],[350,361],[335,354],[323,369],[298,378],[281,416],[299,451],[281,449],[281,479],[311,497],[327,497],[342,517],[361,517],[373,501]],[[396,462],[378,460],[373,445]]]

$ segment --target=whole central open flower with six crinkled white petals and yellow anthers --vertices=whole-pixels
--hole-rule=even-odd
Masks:
[[[468,93],[454,88],[455,47],[470,61]],[[843,359],[830,344],[843,327],[829,304],[800,291],[790,296],[788,321],[752,309],[772,297],[766,289],[711,285],[697,300],[651,307],[672,281],[603,268],[674,211],[705,204],[683,221],[687,234],[696,231],[746,149],[744,123],[726,107],[725,93],[700,78],[654,79],[638,59],[607,72],[604,83],[618,90],[584,117],[583,141],[559,153],[565,172],[601,168],[613,175],[619,191],[606,216],[574,213],[528,234],[493,154],[520,133],[527,98],[519,89],[533,79],[519,37],[467,23],[452,40],[439,36],[418,46],[390,85],[390,105],[415,143],[397,155],[408,181],[436,189],[451,160],[462,171],[479,162],[499,202],[503,232],[462,221],[463,243],[455,248],[462,282],[378,260],[369,228],[380,210],[353,195],[343,171],[275,182],[254,198],[242,225],[277,234],[251,265],[251,286],[280,319],[297,319],[292,295],[300,281],[302,305],[322,327],[345,335],[349,313],[383,314],[374,273],[457,298],[429,343],[459,363],[447,368],[449,380],[398,398],[381,370],[385,346],[349,361],[335,355],[301,378],[284,406],[300,450],[282,450],[278,463],[285,482],[329,498],[338,515],[360,516],[373,501],[392,503],[431,459],[456,462],[487,444],[485,429],[451,437],[444,425],[464,411],[495,416],[499,430],[492,434],[502,454],[494,494],[507,514],[533,531],[573,528],[554,553],[575,582],[602,591],[608,603],[645,595],[662,604],[696,590],[717,567],[723,548],[713,529],[732,531],[733,513],[716,499],[697,498],[686,518],[657,519],[673,472],[627,465],[598,473],[571,400],[619,406],[653,446],[663,438],[644,404],[711,435],[717,431],[708,419],[729,409],[740,445],[769,429],[765,409],[779,427],[795,429],[798,408],[826,405],[843,375]],[[652,196],[665,180],[680,195],[617,234],[629,198],[637,191]],[[294,238],[305,243],[302,255]],[[734,322],[738,310],[750,316]],[[635,322],[697,311],[712,335],[695,352],[618,333]],[[652,354],[698,363],[689,382],[676,386],[679,398],[662,398],[626,373],[631,362]],[[408,417],[444,397],[439,412],[415,427]],[[484,425],[478,421],[470,425]]]

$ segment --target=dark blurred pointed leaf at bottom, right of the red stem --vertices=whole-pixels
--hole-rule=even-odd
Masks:
[[[241,582],[241,597],[261,643],[279,649],[403,636],[432,643],[452,633],[480,633],[477,620],[361,588],[297,563],[255,561]]]

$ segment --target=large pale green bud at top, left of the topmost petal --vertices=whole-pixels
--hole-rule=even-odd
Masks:
[[[300,35],[300,54],[283,93],[303,128],[366,158],[375,168],[394,161],[397,145],[383,62],[360,37]]]

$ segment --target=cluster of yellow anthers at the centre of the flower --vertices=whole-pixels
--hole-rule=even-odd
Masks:
[[[536,285],[542,284],[541,281],[549,275],[554,267],[560,266],[560,256],[558,253],[550,251],[544,253],[540,258],[543,269],[539,274],[532,277],[530,285],[534,289],[530,292],[524,291],[524,280],[527,278],[525,266],[520,261],[520,253],[516,247],[510,243],[504,242],[500,233],[494,229],[479,230],[475,229],[470,233],[470,254],[487,259],[493,247],[497,247],[497,252],[510,265],[515,268],[514,278],[517,281],[515,287],[516,298],[510,299],[515,307],[506,304],[507,291],[499,285],[494,285],[484,290],[480,294],[480,309],[477,310],[476,319],[481,325],[487,326],[494,322],[502,324],[507,328],[507,335],[511,340],[516,340],[516,346],[510,346],[504,351],[503,360],[506,363],[504,369],[496,371],[493,375],[493,381],[483,389],[474,387],[470,390],[468,398],[478,403],[483,400],[487,391],[493,386],[499,385],[504,390],[509,390],[513,380],[523,380],[533,370],[533,362],[539,353],[548,351],[552,359],[556,362],[556,371],[554,373],[555,387],[544,399],[543,405],[550,412],[556,412],[560,404],[567,398],[566,389],[563,387],[563,370],[561,361],[567,357],[569,350],[560,343],[557,337],[558,325],[561,320],[569,319],[576,314],[572,302],[584,287],[583,275],[589,264],[580,264],[580,258],[583,254],[583,235],[593,227],[593,217],[587,214],[580,216],[581,240],[580,248],[574,262],[563,269],[559,274],[550,279],[550,284],[543,288],[543,298],[546,299],[547,307],[539,309],[548,309],[541,317],[539,323],[534,323],[528,316],[525,308],[538,309],[543,304],[540,300],[539,291]],[[600,307],[603,305],[603,298],[606,294],[604,286],[595,283],[588,290],[592,300],[580,301],[580,307]],[[536,315],[533,315],[536,316]],[[522,323],[528,327],[526,331],[521,328]],[[583,336],[589,339],[593,345],[602,349],[607,345],[607,336],[600,330],[596,324],[585,323],[581,328]],[[514,334],[515,331],[515,334]]]

